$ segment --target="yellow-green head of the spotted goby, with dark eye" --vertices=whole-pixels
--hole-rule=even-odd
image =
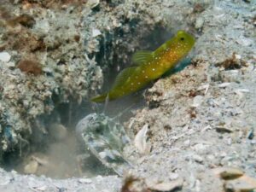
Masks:
[[[172,39],[172,46],[178,53],[186,55],[195,44],[195,38],[188,32],[180,30]]]

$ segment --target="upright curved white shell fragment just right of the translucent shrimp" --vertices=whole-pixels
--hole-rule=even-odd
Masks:
[[[147,154],[149,152],[149,147],[147,145],[147,132],[148,124],[143,126],[143,129],[137,132],[134,139],[134,146],[137,148],[139,154]]]

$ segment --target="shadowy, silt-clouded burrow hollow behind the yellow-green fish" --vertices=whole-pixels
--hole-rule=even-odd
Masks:
[[[125,25],[132,26],[133,30],[125,32]],[[116,75],[131,64],[131,55],[136,50],[154,50],[173,34],[160,25],[139,25],[137,20],[133,20],[113,33],[106,33],[99,39],[100,51],[89,55],[96,56],[96,62],[105,74],[101,92],[108,90]],[[32,135],[26,137],[27,140],[18,148],[3,154],[2,167],[21,174],[55,178],[115,174],[102,166],[100,160],[87,154],[88,151],[83,149],[83,145],[81,148],[75,126],[79,119],[90,113],[105,113],[112,118],[118,116],[116,120],[122,123],[143,105],[143,90],[124,99],[109,102],[107,108],[104,104],[95,104],[88,100],[77,103],[72,98],[68,103],[56,104],[50,115],[41,115],[32,122]],[[48,127],[45,129],[41,124]]]

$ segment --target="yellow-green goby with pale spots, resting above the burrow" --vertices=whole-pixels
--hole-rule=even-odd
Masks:
[[[142,89],[146,84],[176,66],[195,44],[195,38],[187,32],[177,34],[152,51],[138,51],[132,56],[134,67],[125,68],[119,73],[112,89],[100,96],[93,97],[92,102],[104,102],[108,97],[114,100]]]

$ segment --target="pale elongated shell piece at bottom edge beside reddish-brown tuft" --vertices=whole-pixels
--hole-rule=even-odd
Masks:
[[[146,181],[148,189],[154,191],[172,191],[174,189],[180,189],[183,186],[183,179],[179,178],[171,182],[154,183],[152,181]]]

